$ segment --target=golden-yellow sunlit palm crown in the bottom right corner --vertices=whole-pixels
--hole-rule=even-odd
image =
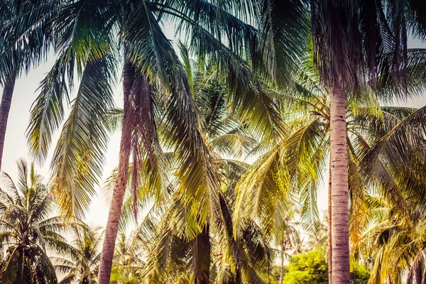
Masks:
[[[410,204],[413,217],[408,219],[381,197],[368,196],[366,200],[368,227],[353,250],[354,256],[371,266],[368,283],[422,283],[424,208]]]

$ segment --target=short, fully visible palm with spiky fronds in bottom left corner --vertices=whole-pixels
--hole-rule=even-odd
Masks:
[[[1,283],[57,283],[47,250],[70,253],[61,231],[62,217],[50,217],[55,209],[48,186],[33,165],[18,161],[18,183],[4,174],[6,189],[0,190],[0,246],[6,256],[0,263]]]

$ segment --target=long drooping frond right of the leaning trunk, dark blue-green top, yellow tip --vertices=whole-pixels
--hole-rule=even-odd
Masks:
[[[201,222],[207,222],[211,209],[207,197],[219,192],[219,177],[200,133],[200,118],[189,81],[175,50],[145,1],[132,11],[129,18],[131,21],[124,28],[124,36],[141,43],[131,45],[129,58],[170,93],[166,125],[170,137],[167,140],[173,142],[166,146],[175,148],[182,163],[178,174],[182,202],[189,204],[192,200],[193,213]]]

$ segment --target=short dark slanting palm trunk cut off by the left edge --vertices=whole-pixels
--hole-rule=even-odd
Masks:
[[[3,96],[1,97],[0,104],[0,170],[1,160],[3,159],[4,138],[6,137],[7,119],[9,117],[9,110],[11,109],[11,102],[13,96],[13,89],[15,88],[16,77],[13,76],[11,80],[4,83]]]

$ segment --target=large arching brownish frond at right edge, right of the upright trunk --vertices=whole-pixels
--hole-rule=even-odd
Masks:
[[[400,120],[371,147],[362,160],[364,175],[384,186],[388,192],[394,192],[390,188],[400,190],[403,195],[400,199],[423,200],[419,189],[422,188],[422,169],[425,167],[425,161],[420,156],[425,145],[424,116],[425,108],[422,108]],[[408,170],[401,171],[401,168]],[[393,198],[392,195],[389,198]],[[406,207],[400,208],[406,210]]]

